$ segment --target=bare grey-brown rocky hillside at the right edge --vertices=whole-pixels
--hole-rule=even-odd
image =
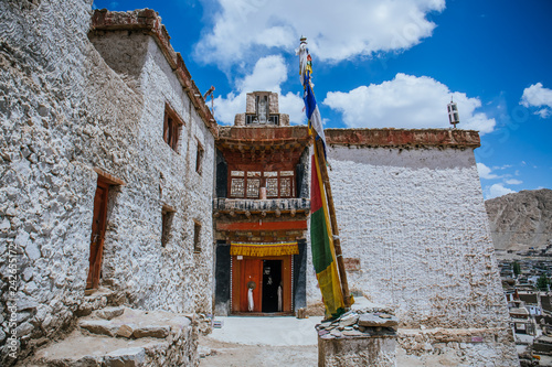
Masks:
[[[521,191],[488,199],[485,206],[497,250],[552,245],[552,190]]]

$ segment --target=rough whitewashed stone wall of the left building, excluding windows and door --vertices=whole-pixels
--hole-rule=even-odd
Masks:
[[[212,130],[151,36],[108,32],[89,41],[91,6],[0,2],[2,358],[12,299],[20,358],[71,327],[86,303],[94,169],[126,183],[110,188],[104,285],[146,310],[211,310]],[[162,139],[166,104],[184,121],[178,152]],[[163,205],[176,209],[166,247]],[[8,292],[9,250],[17,252],[15,294]]]

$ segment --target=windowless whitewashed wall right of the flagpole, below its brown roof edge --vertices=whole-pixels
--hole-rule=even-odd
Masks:
[[[332,144],[328,154],[343,257],[360,260],[351,291],[395,310],[401,327],[496,328],[506,338],[474,149]],[[308,303],[320,303],[314,277]],[[513,344],[503,348],[502,365],[516,364]]]

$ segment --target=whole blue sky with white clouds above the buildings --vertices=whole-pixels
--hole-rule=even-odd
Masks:
[[[300,4],[300,6],[299,6]],[[280,111],[305,123],[298,58],[308,37],[327,128],[480,131],[486,198],[552,188],[552,2],[476,0],[102,1],[114,11],[159,12],[215,117],[233,122],[245,93],[280,94]]]

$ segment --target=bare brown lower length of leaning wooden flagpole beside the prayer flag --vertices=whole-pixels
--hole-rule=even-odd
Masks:
[[[322,175],[323,187],[326,188],[326,198],[328,201],[328,212],[331,222],[331,233],[333,234],[333,248],[336,250],[336,260],[338,262],[339,279],[341,281],[341,291],[343,292],[343,302],[347,309],[351,307],[351,294],[349,293],[349,283],[347,282],[347,272],[344,269],[343,257],[341,255],[341,240],[339,239],[338,220],[336,218],[336,207],[333,206],[333,196],[331,195],[330,177],[326,166],[326,156],[320,140],[315,140],[315,154],[318,154],[320,173]]]

